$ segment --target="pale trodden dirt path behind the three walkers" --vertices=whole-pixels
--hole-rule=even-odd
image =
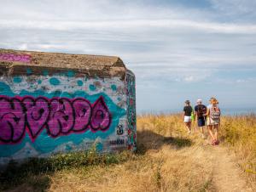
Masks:
[[[245,178],[241,175],[235,156],[231,155],[223,146],[211,147],[207,150],[207,156],[213,163],[212,187],[210,191],[218,192],[253,192]]]

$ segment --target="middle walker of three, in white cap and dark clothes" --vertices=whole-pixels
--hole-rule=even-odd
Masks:
[[[195,116],[197,119],[197,126],[200,129],[201,138],[205,137],[204,127],[206,125],[205,114],[207,113],[207,106],[201,104],[201,99],[197,99],[195,105]]]

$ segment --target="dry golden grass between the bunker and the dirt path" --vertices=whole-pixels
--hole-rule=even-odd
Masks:
[[[122,165],[56,172],[49,191],[206,191],[212,163],[201,155],[209,149],[192,138],[186,137],[180,115],[139,116],[137,140],[143,155]]]

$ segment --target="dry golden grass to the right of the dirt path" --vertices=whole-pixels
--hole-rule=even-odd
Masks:
[[[225,116],[220,137],[236,152],[237,161],[247,177],[256,180],[256,116]]]

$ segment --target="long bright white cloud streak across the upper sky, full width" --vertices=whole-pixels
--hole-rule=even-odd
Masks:
[[[59,20],[0,20],[2,28],[12,29],[51,29],[57,31],[73,30],[111,30],[111,31],[148,31],[154,28],[163,30],[192,30],[210,33],[256,34],[256,25],[223,24],[195,20],[94,20],[94,21],[59,21]]]

